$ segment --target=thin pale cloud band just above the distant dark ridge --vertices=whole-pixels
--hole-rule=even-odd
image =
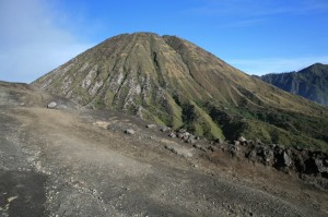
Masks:
[[[273,72],[291,72],[307,68],[314,63],[328,64],[328,56],[323,57],[304,57],[304,58],[268,58],[268,59],[245,59],[227,60],[235,68],[247,74],[263,75]]]

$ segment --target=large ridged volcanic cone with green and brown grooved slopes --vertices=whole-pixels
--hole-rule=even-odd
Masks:
[[[175,36],[109,38],[34,84],[89,108],[124,110],[207,137],[327,148],[327,109]]]

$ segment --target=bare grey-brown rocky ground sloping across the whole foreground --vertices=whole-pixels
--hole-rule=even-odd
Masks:
[[[325,185],[149,124],[1,83],[0,216],[328,215]]]

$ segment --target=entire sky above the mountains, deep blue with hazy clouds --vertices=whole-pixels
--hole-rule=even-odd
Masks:
[[[32,82],[108,37],[177,35],[248,74],[328,63],[327,0],[0,0],[0,80]]]

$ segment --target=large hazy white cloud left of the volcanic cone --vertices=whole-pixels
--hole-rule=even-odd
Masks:
[[[46,2],[0,0],[0,80],[32,82],[91,47],[58,26],[65,14]]]

